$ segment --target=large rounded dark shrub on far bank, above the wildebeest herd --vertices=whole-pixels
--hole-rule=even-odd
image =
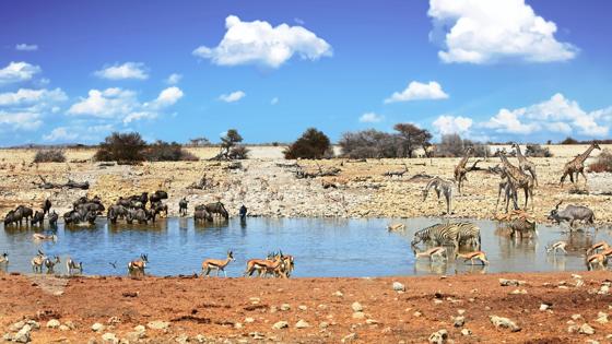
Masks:
[[[119,164],[133,164],[144,161],[146,142],[138,132],[114,132],[99,144],[94,158],[98,162],[116,161]]]

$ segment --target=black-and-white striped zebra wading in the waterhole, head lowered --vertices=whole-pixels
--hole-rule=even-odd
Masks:
[[[427,241],[433,241],[434,245],[451,242],[456,250],[461,244],[478,246],[480,249],[480,228],[471,223],[437,224],[414,233],[411,245],[416,246],[419,242]]]

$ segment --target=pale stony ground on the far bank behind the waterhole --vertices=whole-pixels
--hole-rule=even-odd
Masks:
[[[588,185],[580,179],[578,187],[569,182],[561,187],[558,179],[564,163],[584,147],[569,146],[572,151],[568,146],[554,147],[558,151],[554,151],[555,157],[532,158],[539,174],[533,210],[536,218],[545,222],[550,210],[564,201],[565,204],[590,206],[599,223],[612,222],[612,175],[588,174]],[[58,212],[63,212],[80,195],[98,194],[106,204],[110,204],[120,195],[162,189],[170,195],[167,200],[170,215],[178,213],[178,200],[186,197],[190,209],[199,203],[221,200],[233,215],[244,203],[250,214],[257,216],[436,216],[443,213],[445,205],[438,203],[433,194],[426,201],[422,200],[421,190],[427,181],[427,177],[423,176],[451,179],[458,162],[457,158],[299,162],[299,166],[309,173],[319,168],[322,171],[338,168],[340,173],[332,177],[297,179],[295,167],[283,167],[293,162],[279,158],[276,151],[280,150],[254,147],[255,157],[242,162],[237,169],[231,169],[231,163],[207,161],[216,153],[213,149],[193,149],[192,152],[202,158],[200,162],[144,163],[139,166],[94,163],[91,161],[93,150],[68,151],[68,163],[63,164],[32,164],[34,151],[2,150],[0,214],[17,204],[40,207],[46,198],[51,199]],[[479,167],[492,167],[498,163],[497,158],[489,158]],[[404,165],[408,173],[402,178],[382,176],[387,171],[402,170]],[[64,182],[68,178],[89,181],[92,187],[89,191],[42,190],[34,185],[40,181],[38,176],[54,182]],[[207,180],[204,189],[188,188],[203,176]],[[498,182],[498,176],[485,170],[470,173],[463,193],[455,198],[454,216],[494,217]],[[519,201],[523,202],[522,195]]]

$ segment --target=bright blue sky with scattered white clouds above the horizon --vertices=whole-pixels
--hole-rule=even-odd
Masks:
[[[609,138],[605,0],[0,3],[0,145]],[[170,75],[173,75],[170,78]]]

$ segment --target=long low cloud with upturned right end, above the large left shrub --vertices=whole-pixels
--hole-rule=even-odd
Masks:
[[[141,120],[154,119],[168,106],[172,106],[184,96],[177,86],[172,86],[160,92],[160,95],[150,103],[140,103],[136,92],[118,87],[104,91],[91,90],[86,98],[73,104],[68,115],[95,117],[102,119],[118,119],[125,124]]]

